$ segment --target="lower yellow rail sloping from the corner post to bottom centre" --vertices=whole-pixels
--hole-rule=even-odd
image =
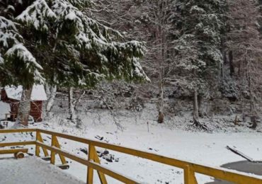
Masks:
[[[97,163],[94,163],[94,162],[91,162],[91,161],[88,161],[84,158],[81,158],[80,156],[76,156],[75,154],[70,154],[68,153],[67,151],[62,151],[61,149],[58,149],[56,147],[52,147],[52,146],[48,146],[46,144],[43,144],[42,142],[36,142],[36,144],[38,146],[42,146],[44,147],[45,149],[48,149],[50,151],[54,151],[56,152],[57,154],[62,154],[63,156],[69,158],[69,159],[72,159],[74,161],[77,161],[79,163],[82,163],[83,165],[85,166],[89,166],[91,168],[94,168],[98,171],[101,171],[102,173],[105,173],[106,175],[108,176],[111,176],[111,177],[116,177],[116,179],[122,181],[123,183],[139,183],[137,182],[136,180],[133,180],[131,178],[128,178],[127,176],[122,176],[120,175],[119,173],[115,172],[115,171],[110,171],[109,168],[106,168],[105,166],[100,166],[99,164]]]

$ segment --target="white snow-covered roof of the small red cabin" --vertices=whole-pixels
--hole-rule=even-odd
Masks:
[[[8,98],[13,99],[13,100],[21,100],[22,96],[22,91],[23,91],[23,86],[6,86],[4,88],[6,91],[6,95]],[[31,100],[47,100],[47,95],[45,93],[45,88],[43,85],[34,85],[33,86],[33,91],[31,94]]]

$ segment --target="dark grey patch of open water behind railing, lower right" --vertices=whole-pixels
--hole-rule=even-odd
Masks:
[[[229,168],[237,171],[241,171],[244,173],[254,173],[258,176],[262,176],[262,162],[256,161],[237,161],[233,163],[226,163],[221,166],[222,168]],[[228,181],[224,180],[215,180],[213,182],[207,183],[207,184],[232,184]]]

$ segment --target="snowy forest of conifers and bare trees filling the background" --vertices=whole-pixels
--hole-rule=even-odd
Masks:
[[[163,124],[188,111],[198,130],[213,115],[258,127],[262,1],[119,2],[0,0],[0,86],[23,86],[18,122],[28,124],[33,84],[43,84],[45,118],[61,97],[77,126],[92,99],[112,115],[153,103]]]

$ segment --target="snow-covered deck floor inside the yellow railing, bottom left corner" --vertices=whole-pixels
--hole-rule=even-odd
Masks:
[[[84,182],[64,173],[61,169],[42,159],[28,156],[24,159],[0,159],[1,184],[38,183],[72,184]]]

